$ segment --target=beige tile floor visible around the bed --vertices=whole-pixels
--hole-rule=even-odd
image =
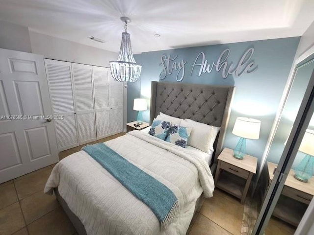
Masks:
[[[108,141],[124,134],[92,143]],[[60,152],[59,159],[79,151],[81,147]],[[43,193],[54,165],[0,184],[0,235],[77,234],[55,196]],[[188,234],[240,235],[243,210],[244,206],[238,199],[215,189],[213,197],[206,199],[199,213],[194,216]],[[278,228],[278,224],[274,226]]]

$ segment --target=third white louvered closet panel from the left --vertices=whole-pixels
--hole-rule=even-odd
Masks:
[[[97,140],[111,135],[109,69],[93,66]]]

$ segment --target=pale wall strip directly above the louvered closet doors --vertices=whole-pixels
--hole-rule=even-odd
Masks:
[[[109,67],[118,53],[29,31],[32,52],[44,58]],[[116,48],[117,50],[119,48]]]

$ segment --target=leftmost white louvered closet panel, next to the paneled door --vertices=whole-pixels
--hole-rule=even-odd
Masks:
[[[54,126],[59,151],[78,146],[78,133],[72,90],[71,63],[45,59]]]

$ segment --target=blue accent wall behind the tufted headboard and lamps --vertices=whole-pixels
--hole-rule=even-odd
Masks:
[[[151,82],[159,81],[159,74],[163,67],[160,65],[162,55],[170,55],[175,61],[187,61],[185,63],[185,75],[182,83],[198,83],[207,85],[235,86],[235,98],[232,104],[231,118],[227,128],[224,146],[235,148],[238,137],[232,134],[232,129],[237,117],[256,118],[262,121],[259,140],[247,141],[247,153],[262,158],[262,154],[268,139],[282,92],[286,85],[288,74],[298,47],[300,37],[261,40],[253,42],[231,43],[203,47],[187,47],[171,50],[143,52],[135,55],[135,60],[142,65],[140,81],[129,84],[128,87],[128,121],[136,119],[137,112],[132,110],[134,98],[146,98],[150,104]],[[226,79],[222,78],[222,71],[202,73],[198,76],[200,67],[195,67],[191,74],[192,64],[197,55],[204,52],[209,64],[217,62],[221,52],[230,49],[227,59],[228,64],[237,65],[244,52],[254,48],[254,54],[250,61],[255,62],[258,69],[252,73],[243,73],[239,77],[234,74]],[[200,62],[201,59],[198,59]],[[179,74],[180,77],[181,74]],[[177,71],[167,75],[163,81],[177,82]],[[136,85],[135,85],[136,84]],[[140,84],[140,85],[139,85]],[[149,110],[143,112],[143,120],[149,122]]]

